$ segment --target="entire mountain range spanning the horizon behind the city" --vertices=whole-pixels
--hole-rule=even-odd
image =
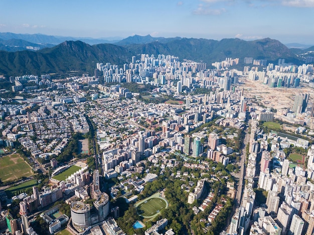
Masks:
[[[115,42],[115,44],[89,45],[82,41],[65,41],[53,46],[52,44],[56,41],[50,38],[50,44],[48,44],[47,38],[53,36],[37,35],[38,37],[35,37],[33,35],[31,36],[33,38],[32,44],[24,39],[13,41],[8,37],[4,39],[2,36],[0,34],[0,38],[3,39],[0,40],[0,50],[2,50],[1,45],[7,45],[6,48],[14,49],[14,46],[10,45],[17,42],[20,43],[21,47],[24,45],[24,47],[33,47],[37,50],[0,51],[0,74],[8,76],[67,73],[69,71],[93,72],[97,62],[122,65],[129,63],[132,56],[140,54],[174,55],[178,56],[181,61],[184,59],[193,60],[207,63],[209,66],[215,61],[222,61],[226,58],[239,58],[240,61],[243,61],[245,57],[266,59],[267,63],[276,63],[278,58],[284,58],[286,62],[302,64],[306,56],[312,56],[310,51],[314,51],[313,47],[306,50],[288,49],[279,41],[269,38],[255,41],[240,39],[216,41],[135,35]],[[46,44],[43,44],[44,41]],[[42,47],[46,48],[41,49]]]

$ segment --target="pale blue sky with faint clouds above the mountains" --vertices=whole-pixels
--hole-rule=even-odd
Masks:
[[[0,32],[314,45],[314,0],[0,0]]]

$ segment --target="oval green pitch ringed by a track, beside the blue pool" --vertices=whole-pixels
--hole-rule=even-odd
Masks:
[[[137,206],[137,213],[143,217],[151,217],[166,208],[167,203],[163,198],[149,198]]]

